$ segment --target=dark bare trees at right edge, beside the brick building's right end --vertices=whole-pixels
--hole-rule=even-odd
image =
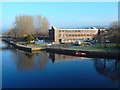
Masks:
[[[110,27],[105,30],[99,30],[98,35],[94,37],[98,40],[98,43],[104,42],[104,47],[106,46],[106,41],[109,40],[110,43],[115,43],[116,46],[120,44],[120,25],[117,21],[112,22]]]

